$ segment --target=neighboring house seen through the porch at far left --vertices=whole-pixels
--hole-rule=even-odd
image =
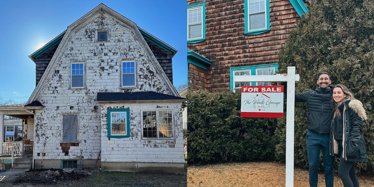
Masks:
[[[22,119],[5,119],[3,128],[3,142],[13,141],[17,137],[22,137]]]

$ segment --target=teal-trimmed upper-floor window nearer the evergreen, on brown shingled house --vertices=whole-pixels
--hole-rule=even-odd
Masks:
[[[245,34],[270,30],[269,0],[245,0],[244,12]]]

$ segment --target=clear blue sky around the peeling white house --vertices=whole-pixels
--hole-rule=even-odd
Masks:
[[[28,56],[100,3],[177,49],[174,86],[187,82],[185,0],[2,1],[0,97],[27,101],[35,88],[35,64]]]

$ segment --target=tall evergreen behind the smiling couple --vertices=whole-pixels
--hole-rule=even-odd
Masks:
[[[359,163],[358,171],[373,174],[374,168],[374,1],[313,0],[309,15],[289,33],[279,53],[279,72],[296,66],[300,82],[296,92],[316,88],[317,74],[327,71],[332,84],[350,88],[364,104],[368,120],[364,123],[369,163]],[[306,105],[295,108],[295,165],[307,167]],[[285,156],[285,120],[276,132],[280,143],[277,158]]]

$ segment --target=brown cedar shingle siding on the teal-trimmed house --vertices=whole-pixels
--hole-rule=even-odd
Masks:
[[[202,0],[187,0],[187,4]],[[206,89],[229,89],[230,67],[278,62],[278,53],[289,31],[300,19],[289,0],[270,0],[270,31],[244,34],[244,0],[205,0],[206,40],[187,47],[212,61],[205,72]],[[190,74],[191,66],[188,68]],[[197,68],[194,68],[196,71]],[[200,74],[203,72],[200,72]],[[189,88],[201,82],[188,75]],[[200,75],[200,77],[203,77]]]

